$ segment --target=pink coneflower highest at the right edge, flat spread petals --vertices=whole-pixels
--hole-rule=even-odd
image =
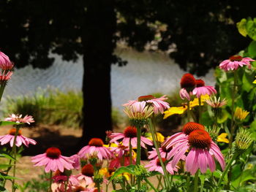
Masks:
[[[222,61],[219,64],[219,68],[223,69],[225,72],[230,70],[236,70],[239,66],[248,66],[249,69],[252,68],[250,62],[255,61],[252,58],[242,58],[240,55],[233,55],[229,59]]]

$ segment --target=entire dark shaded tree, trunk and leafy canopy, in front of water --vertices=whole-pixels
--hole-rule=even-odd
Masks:
[[[116,42],[163,50],[182,69],[203,75],[249,44],[236,23],[256,15],[255,1],[37,0],[0,1],[1,50],[16,67],[46,68],[57,53],[83,55],[83,137],[112,128],[110,65],[125,64]],[[32,83],[32,82],[31,82]]]

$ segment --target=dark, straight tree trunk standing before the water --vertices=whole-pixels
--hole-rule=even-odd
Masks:
[[[116,12],[113,0],[88,2],[83,23],[83,136],[80,145],[91,138],[105,141],[112,130],[110,65],[116,47]]]

